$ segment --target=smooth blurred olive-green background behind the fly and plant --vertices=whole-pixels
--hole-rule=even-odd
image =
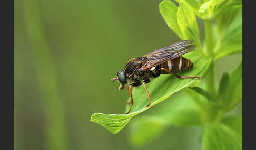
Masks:
[[[90,122],[95,112],[124,113],[129,94],[110,79],[129,59],[180,40],[165,24],[160,2],[14,1],[15,149],[201,148],[200,127],[170,127],[136,148],[130,123],[111,134]],[[216,80],[241,56],[216,61]],[[241,111],[240,104],[233,112]]]

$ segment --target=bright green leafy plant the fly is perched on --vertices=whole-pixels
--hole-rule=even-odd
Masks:
[[[131,142],[143,145],[161,135],[169,125],[203,126],[204,149],[242,149],[242,116],[227,116],[242,100],[242,62],[231,73],[224,73],[218,89],[214,78],[216,59],[242,52],[242,1],[172,1],[160,3],[160,13],[166,24],[181,39],[194,39],[196,49],[184,57],[194,62],[194,68],[180,76],[200,76],[203,80],[160,76],[148,85],[152,104],[158,104],[173,93],[184,94],[179,100],[159,108],[154,114],[137,117],[131,127]],[[197,18],[204,22],[205,39],[201,41]],[[197,81],[197,82],[195,82]],[[194,83],[195,82],[195,83]],[[193,87],[186,88],[193,84]],[[129,114],[94,113],[91,121],[117,133],[131,118],[145,110],[148,99],[143,87],[133,90],[134,106]],[[127,105],[125,112],[129,110]],[[146,131],[146,132],[145,132]],[[146,133],[146,134],[142,134]]]

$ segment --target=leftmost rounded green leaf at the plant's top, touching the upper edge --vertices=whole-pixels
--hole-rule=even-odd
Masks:
[[[183,39],[180,27],[177,23],[178,7],[173,2],[165,0],[159,4],[159,9],[168,27],[171,28],[181,39]]]

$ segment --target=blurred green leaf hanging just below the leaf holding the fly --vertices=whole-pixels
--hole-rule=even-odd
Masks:
[[[181,91],[178,97],[166,101],[154,113],[136,117],[129,126],[130,142],[134,146],[143,146],[159,137],[171,126],[202,125],[205,112],[191,99],[190,95]],[[157,132],[155,131],[157,130]]]

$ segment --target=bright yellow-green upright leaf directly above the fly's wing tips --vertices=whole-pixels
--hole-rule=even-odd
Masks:
[[[193,10],[184,3],[180,3],[178,7],[177,23],[181,29],[183,39],[194,39],[195,44],[201,50],[202,46],[196,17]]]

